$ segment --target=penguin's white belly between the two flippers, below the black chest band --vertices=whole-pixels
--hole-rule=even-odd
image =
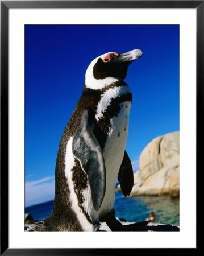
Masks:
[[[100,214],[113,209],[115,200],[115,185],[120,165],[123,160],[127,143],[130,101],[119,104],[120,112],[111,118],[111,126],[103,148],[103,158],[106,166],[106,192],[99,209]]]

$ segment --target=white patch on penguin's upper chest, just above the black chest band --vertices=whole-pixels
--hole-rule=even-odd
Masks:
[[[113,87],[107,90],[101,97],[101,100],[97,107],[97,114],[95,115],[95,118],[97,119],[97,121],[99,118],[103,116],[103,112],[105,112],[105,110],[107,109],[107,106],[110,105],[110,102],[112,99],[127,93],[131,93],[130,87],[127,85]]]

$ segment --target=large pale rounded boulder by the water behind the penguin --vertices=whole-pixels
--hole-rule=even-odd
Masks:
[[[179,156],[179,131],[153,139],[141,152],[130,196],[179,196]]]

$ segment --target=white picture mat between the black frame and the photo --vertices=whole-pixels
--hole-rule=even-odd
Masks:
[[[24,232],[24,24],[180,24],[180,232]],[[195,247],[195,113],[195,9],[9,9],[9,248]]]

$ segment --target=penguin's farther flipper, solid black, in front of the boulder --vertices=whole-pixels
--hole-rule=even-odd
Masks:
[[[124,196],[129,196],[133,187],[134,178],[130,158],[124,151],[123,162],[118,172],[118,181]]]

